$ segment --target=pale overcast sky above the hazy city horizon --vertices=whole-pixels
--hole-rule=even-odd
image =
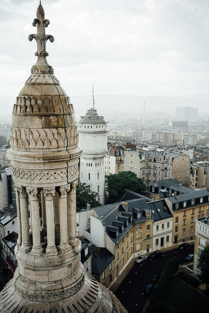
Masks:
[[[208,94],[208,0],[42,0],[48,62],[68,95]],[[39,1],[1,0],[0,94],[35,64]]]

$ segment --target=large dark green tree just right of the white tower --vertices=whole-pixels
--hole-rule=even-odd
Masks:
[[[125,188],[133,192],[140,192],[145,191],[147,187],[142,179],[138,178],[136,174],[131,171],[109,175],[107,176],[108,203],[115,202]]]

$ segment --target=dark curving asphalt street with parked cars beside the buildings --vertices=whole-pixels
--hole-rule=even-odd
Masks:
[[[152,274],[162,273],[168,259],[173,256],[178,257],[179,264],[187,262],[186,256],[194,253],[194,245],[190,245],[188,250],[173,249],[163,253],[163,256],[151,260],[149,257],[144,263],[134,263],[126,278],[115,292],[116,297],[121,301],[129,313],[140,313],[146,304],[149,296],[143,291],[147,283],[151,282]],[[189,261],[190,264],[192,261]]]

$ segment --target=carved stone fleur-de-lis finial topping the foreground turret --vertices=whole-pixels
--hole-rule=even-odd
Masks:
[[[30,34],[28,39],[30,41],[33,40],[33,38],[37,42],[37,51],[35,52],[35,55],[40,56],[48,56],[48,52],[46,51],[46,41],[49,39],[51,42],[54,41],[54,37],[52,35],[46,35],[45,34],[45,27],[48,27],[50,21],[48,19],[45,19],[44,16],[44,9],[41,5],[41,1],[39,4],[39,7],[36,12],[36,17],[33,21],[33,26],[35,27],[37,25],[37,34]]]

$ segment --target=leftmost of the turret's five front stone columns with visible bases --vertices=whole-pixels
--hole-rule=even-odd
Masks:
[[[19,191],[20,191],[20,217],[22,228],[22,244],[20,246],[20,249],[24,253],[27,253],[32,248],[29,233],[28,195],[26,193],[25,187],[19,188]]]

